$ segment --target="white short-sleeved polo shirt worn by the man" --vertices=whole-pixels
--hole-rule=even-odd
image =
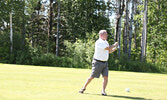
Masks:
[[[107,61],[109,58],[109,51],[104,50],[106,47],[108,47],[109,44],[105,40],[102,40],[99,38],[95,43],[95,53],[94,53],[94,59],[101,60],[101,61]]]

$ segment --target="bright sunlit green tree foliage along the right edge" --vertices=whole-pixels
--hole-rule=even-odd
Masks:
[[[167,2],[165,0],[150,0],[148,2],[148,36],[147,61],[167,66]],[[164,67],[165,68],[165,67]]]

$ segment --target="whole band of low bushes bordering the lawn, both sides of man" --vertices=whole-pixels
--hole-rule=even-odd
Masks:
[[[21,35],[15,33],[13,39],[13,53],[10,53],[9,34],[0,34],[0,62],[14,64],[33,64],[41,66],[59,66],[75,68],[91,68],[93,59],[95,40],[98,39],[96,33],[87,34],[84,40],[76,39],[75,43],[65,41],[66,55],[56,57],[54,54],[43,54],[40,48],[33,48],[25,41],[22,44]],[[9,41],[6,41],[9,40]],[[166,53],[164,53],[165,55]],[[165,56],[166,57],[166,56]],[[114,54],[110,54],[108,60],[110,70],[135,71],[135,72],[160,72],[167,71],[167,63],[164,57],[156,64],[141,62],[139,60],[128,60],[126,55],[121,55],[120,59]]]

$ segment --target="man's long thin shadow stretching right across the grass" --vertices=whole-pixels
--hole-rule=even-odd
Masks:
[[[91,94],[91,93],[84,93],[84,94],[102,96],[100,94]],[[132,99],[132,100],[152,100],[152,99],[146,99],[142,97],[130,97],[130,96],[120,96],[120,95],[107,95],[105,97],[124,98],[124,99]]]

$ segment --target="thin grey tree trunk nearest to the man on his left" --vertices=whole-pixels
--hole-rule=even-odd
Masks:
[[[60,32],[59,26],[60,26],[60,1],[58,1],[56,56],[59,56],[59,32]]]

